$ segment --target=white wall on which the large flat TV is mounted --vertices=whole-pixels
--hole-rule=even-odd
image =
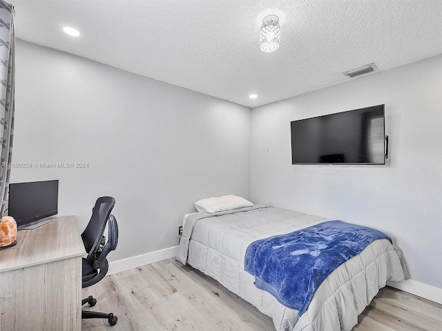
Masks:
[[[387,165],[291,165],[290,121],[385,103]],[[442,288],[442,56],[251,112],[251,201],[369,225]]]

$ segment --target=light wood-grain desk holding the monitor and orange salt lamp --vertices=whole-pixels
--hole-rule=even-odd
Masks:
[[[83,253],[75,217],[19,230],[0,250],[0,330],[81,330]]]

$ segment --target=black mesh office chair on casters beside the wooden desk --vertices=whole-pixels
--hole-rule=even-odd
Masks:
[[[101,197],[95,202],[95,206],[92,210],[92,217],[86,229],[81,234],[83,239],[84,248],[88,252],[88,257],[83,259],[83,281],[82,288],[87,288],[90,285],[101,281],[106,272],[108,272],[108,260],[107,254],[111,250],[117,248],[118,241],[118,226],[115,217],[111,215],[113,206],[115,205],[115,199],[113,197]],[[106,243],[106,237],[104,237],[104,228],[108,222],[108,241]],[[81,305],[88,303],[90,307],[97,303],[97,300],[92,296],[83,299]],[[111,325],[117,323],[117,317],[114,314],[106,314],[104,312],[91,312],[88,310],[81,310],[82,319],[108,319]]]

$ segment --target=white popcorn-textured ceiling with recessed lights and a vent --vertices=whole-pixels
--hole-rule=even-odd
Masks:
[[[19,39],[251,108],[348,81],[344,71],[367,63],[383,71],[442,53],[441,0],[10,2]],[[267,14],[280,18],[273,53],[259,46]]]

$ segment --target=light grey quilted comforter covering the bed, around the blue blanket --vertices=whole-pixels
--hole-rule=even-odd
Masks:
[[[339,265],[320,283],[302,314],[256,288],[255,277],[244,271],[244,257],[251,243],[326,221],[330,220],[269,205],[189,214],[183,222],[177,260],[189,263],[256,306],[273,319],[276,330],[352,330],[358,314],[387,280],[404,279],[401,262],[388,239],[369,243]]]

